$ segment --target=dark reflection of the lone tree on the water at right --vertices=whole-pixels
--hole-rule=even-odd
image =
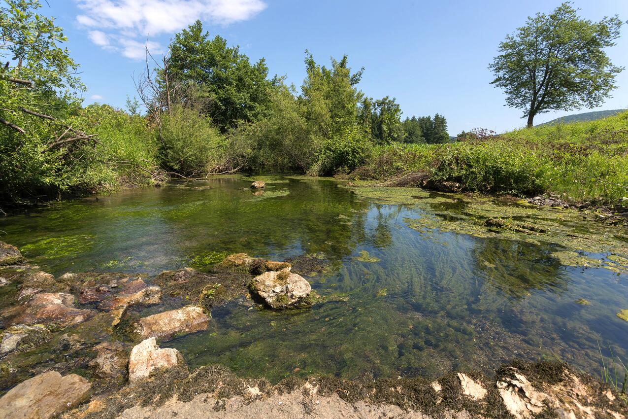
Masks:
[[[514,298],[524,298],[533,290],[566,290],[567,278],[551,251],[548,246],[514,240],[475,240],[474,274]]]

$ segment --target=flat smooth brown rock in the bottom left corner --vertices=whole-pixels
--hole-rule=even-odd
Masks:
[[[0,418],[48,419],[77,406],[89,396],[92,384],[77,374],[57,371],[39,374],[0,398]]]

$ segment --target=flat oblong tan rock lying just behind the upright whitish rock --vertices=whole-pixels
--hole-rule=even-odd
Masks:
[[[170,310],[141,318],[136,332],[144,339],[179,332],[192,333],[207,329],[208,322],[209,317],[202,308],[190,305],[178,310]]]

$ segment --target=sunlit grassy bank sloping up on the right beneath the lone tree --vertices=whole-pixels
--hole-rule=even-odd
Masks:
[[[590,122],[375,148],[350,177],[399,185],[628,206],[628,112]]]

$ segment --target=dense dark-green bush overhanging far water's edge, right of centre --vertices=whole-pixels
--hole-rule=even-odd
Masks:
[[[362,165],[371,143],[362,128],[352,126],[325,141],[318,156],[318,163],[311,170],[313,175],[348,173]]]

